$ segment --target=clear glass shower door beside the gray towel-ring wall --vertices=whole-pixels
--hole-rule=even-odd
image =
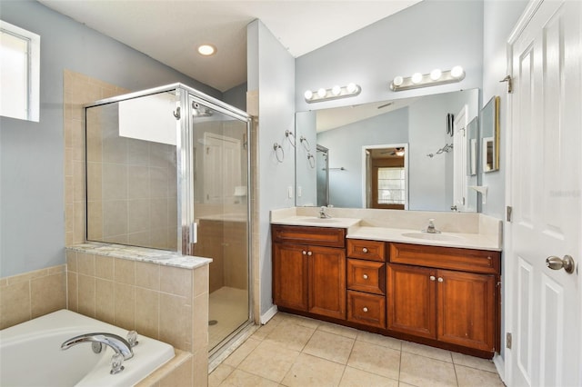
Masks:
[[[194,254],[212,258],[209,276],[208,348],[221,344],[250,320],[248,124],[226,108],[191,96]]]

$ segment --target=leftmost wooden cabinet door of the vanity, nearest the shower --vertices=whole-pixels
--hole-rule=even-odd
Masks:
[[[307,246],[273,243],[273,301],[307,310]]]

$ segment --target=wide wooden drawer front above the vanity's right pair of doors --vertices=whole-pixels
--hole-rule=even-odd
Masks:
[[[501,253],[455,247],[390,243],[390,262],[471,273],[500,273]]]

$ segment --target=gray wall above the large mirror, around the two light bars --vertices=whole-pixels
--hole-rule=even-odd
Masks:
[[[460,84],[392,92],[396,75],[449,70],[462,65]],[[298,111],[384,101],[481,87],[483,73],[483,2],[425,0],[396,15],[296,59]],[[354,98],[306,104],[306,90],[354,82],[362,93]]]

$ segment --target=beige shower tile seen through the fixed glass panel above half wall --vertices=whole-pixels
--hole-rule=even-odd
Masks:
[[[176,147],[119,136],[117,104],[86,119],[88,239],[176,250]]]

